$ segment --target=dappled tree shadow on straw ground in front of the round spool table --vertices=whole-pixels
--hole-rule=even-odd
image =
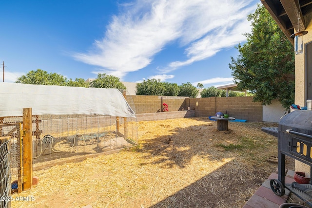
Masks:
[[[143,156],[147,162],[141,165],[152,161],[162,168],[172,168],[175,165],[184,168],[195,155],[211,161],[233,156],[224,154],[224,149],[216,145],[240,143],[241,135],[234,129],[239,127],[229,125],[229,131],[218,131],[214,121],[203,118],[194,120],[201,123],[185,127],[179,124],[179,127],[176,127],[177,124],[167,120],[156,127],[155,131],[159,132],[156,137],[141,140],[142,151],[147,153]]]

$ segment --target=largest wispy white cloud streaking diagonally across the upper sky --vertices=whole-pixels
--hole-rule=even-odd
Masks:
[[[249,0],[137,0],[121,5],[124,12],[114,16],[105,37],[95,40],[77,60],[99,66],[100,73],[122,79],[129,72],[148,66],[163,48],[178,41],[186,47],[185,60],[169,63],[161,74],[244,41],[250,31],[247,15],[256,5]]]

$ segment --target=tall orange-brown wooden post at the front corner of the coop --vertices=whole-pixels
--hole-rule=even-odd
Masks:
[[[33,122],[32,109],[23,109],[23,170],[24,181],[23,190],[29,190],[32,187],[33,179]]]

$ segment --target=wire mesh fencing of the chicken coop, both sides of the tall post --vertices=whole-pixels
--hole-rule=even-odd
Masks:
[[[0,194],[22,191],[23,117],[0,118]],[[136,146],[136,118],[109,115],[33,115],[32,162],[36,169]],[[1,201],[0,208],[9,207]]]

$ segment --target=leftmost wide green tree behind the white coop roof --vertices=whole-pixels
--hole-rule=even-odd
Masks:
[[[48,73],[41,69],[29,71],[17,78],[16,83],[66,86],[67,78],[57,73]]]

